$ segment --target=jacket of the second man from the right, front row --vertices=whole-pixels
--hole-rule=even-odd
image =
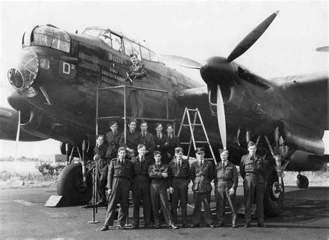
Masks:
[[[222,161],[217,163],[216,168],[214,170],[214,183],[217,183],[218,181],[233,182],[232,187],[234,190],[237,190],[237,167],[230,161],[228,161],[226,166],[223,166]]]

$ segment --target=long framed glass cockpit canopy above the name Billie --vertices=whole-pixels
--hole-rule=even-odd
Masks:
[[[91,26],[85,29],[82,34],[101,38],[101,40],[106,42],[107,45],[121,53],[127,54],[128,56],[130,54],[136,54],[139,60],[142,60],[143,58],[146,61],[159,61],[158,56],[149,48],[140,45],[140,42],[135,42],[135,40],[132,40],[121,33],[111,31],[110,29]]]

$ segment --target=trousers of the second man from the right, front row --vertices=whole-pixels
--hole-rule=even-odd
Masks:
[[[237,224],[237,214],[235,211],[235,198],[236,194],[230,195],[228,190],[233,186],[232,181],[218,181],[214,184],[214,195],[216,198],[217,221],[222,225],[225,221],[225,205],[226,201],[230,205],[232,211],[232,224]]]

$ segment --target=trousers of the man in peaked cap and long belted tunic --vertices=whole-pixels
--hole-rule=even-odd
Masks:
[[[201,203],[205,209],[205,223],[212,224],[212,216],[210,213],[210,197],[211,192],[197,193],[194,191],[194,210],[193,210],[193,223],[200,224],[201,222]]]

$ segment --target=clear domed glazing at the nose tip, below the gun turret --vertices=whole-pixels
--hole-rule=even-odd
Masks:
[[[31,87],[39,70],[39,58],[35,51],[24,50],[19,57],[17,67],[8,71],[8,81],[17,90],[23,91]]]

